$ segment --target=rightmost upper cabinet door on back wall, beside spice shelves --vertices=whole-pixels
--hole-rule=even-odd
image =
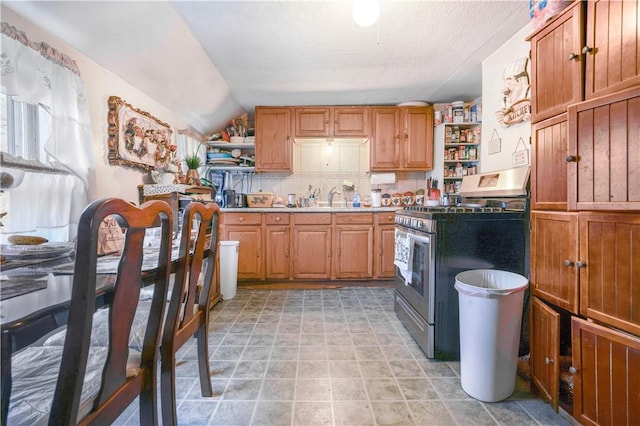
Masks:
[[[433,108],[403,108],[404,155],[402,168],[427,171],[433,169]]]

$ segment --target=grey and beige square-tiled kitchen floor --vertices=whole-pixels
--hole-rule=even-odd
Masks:
[[[212,310],[213,398],[193,342],[179,352],[180,425],[573,425],[518,381],[483,403],[459,362],[428,360],[393,312],[392,288],[247,290]],[[136,425],[137,403],[118,419]]]

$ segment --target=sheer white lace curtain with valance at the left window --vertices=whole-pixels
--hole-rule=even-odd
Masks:
[[[0,91],[50,114],[51,131],[44,149],[51,165],[68,171],[51,174],[37,167],[27,169],[21,184],[5,194],[8,214],[2,233],[37,234],[52,241],[74,239],[95,173],[84,84],[71,58],[46,43],[28,40],[5,22],[0,24]]]

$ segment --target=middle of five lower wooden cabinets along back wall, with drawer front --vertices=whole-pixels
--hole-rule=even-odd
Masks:
[[[331,278],[331,213],[296,213],[293,223],[293,278]]]

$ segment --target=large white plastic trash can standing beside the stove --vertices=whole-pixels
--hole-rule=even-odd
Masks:
[[[456,275],[460,308],[460,382],[472,398],[507,399],[516,386],[524,291],[513,272],[474,269]]]

